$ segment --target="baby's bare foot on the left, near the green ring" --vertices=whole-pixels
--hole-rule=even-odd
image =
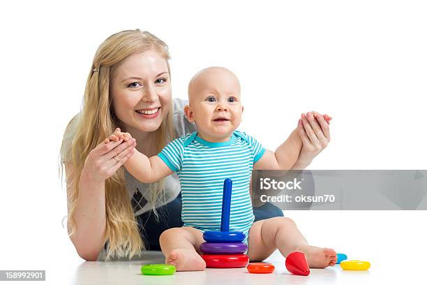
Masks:
[[[166,256],[166,264],[172,264],[177,271],[200,271],[206,268],[203,258],[194,249],[174,249]]]

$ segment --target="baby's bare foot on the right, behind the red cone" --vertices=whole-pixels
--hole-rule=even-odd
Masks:
[[[297,250],[306,254],[310,268],[326,268],[334,266],[336,263],[336,252],[334,249],[313,247],[307,244],[299,247]]]

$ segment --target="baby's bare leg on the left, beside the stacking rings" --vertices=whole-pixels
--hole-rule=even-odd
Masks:
[[[198,254],[202,242],[202,232],[188,226],[170,228],[160,235],[160,247],[165,255],[165,263],[174,265],[177,271],[206,268],[206,263]]]

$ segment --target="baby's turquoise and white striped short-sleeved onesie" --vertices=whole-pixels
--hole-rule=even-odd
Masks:
[[[158,156],[179,177],[184,226],[220,231],[223,184],[230,178],[230,231],[243,232],[247,242],[254,220],[250,175],[264,152],[255,138],[239,131],[227,142],[208,142],[194,132],[166,145]]]

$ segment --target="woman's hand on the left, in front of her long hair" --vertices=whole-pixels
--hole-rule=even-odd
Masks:
[[[116,135],[109,136],[92,149],[84,161],[82,174],[84,173],[94,182],[104,182],[111,177],[133,155],[135,150],[136,140],[129,138],[130,135],[118,131],[117,140],[112,136]],[[123,140],[126,141],[123,142]]]

